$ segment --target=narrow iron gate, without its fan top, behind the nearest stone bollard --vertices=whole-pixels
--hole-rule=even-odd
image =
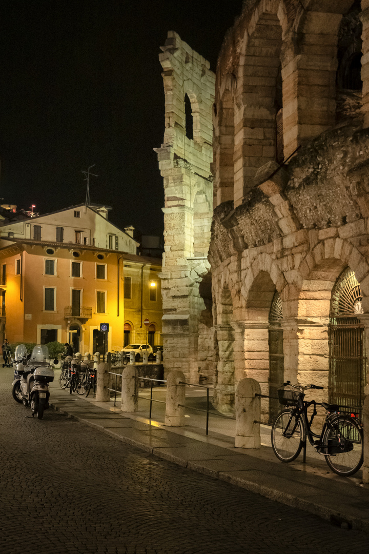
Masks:
[[[269,325],[269,423],[273,423],[280,412],[277,390],[284,379],[283,329],[278,323]]]

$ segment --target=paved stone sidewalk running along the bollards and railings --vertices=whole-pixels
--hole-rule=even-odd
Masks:
[[[302,454],[290,464],[281,463],[272,449],[243,450],[234,439],[200,429],[165,427],[162,423],[137,416],[121,416],[111,402],[97,403],[70,395],[55,379],[50,404],[55,410],[145,452],[175,464],[228,481],[283,504],[306,510],[350,529],[369,532],[369,486],[361,483],[361,471],[352,478],[341,478],[329,470],[323,457],[319,463]],[[129,416],[129,417],[128,417]]]

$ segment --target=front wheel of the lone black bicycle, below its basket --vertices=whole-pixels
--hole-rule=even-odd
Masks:
[[[303,446],[303,426],[291,412],[284,410],[277,416],[272,427],[272,448],[280,461],[293,461]]]

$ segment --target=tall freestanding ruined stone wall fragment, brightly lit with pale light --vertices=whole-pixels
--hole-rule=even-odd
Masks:
[[[214,373],[210,264],[212,105],[209,62],[174,32],[162,47],[165,134],[158,153],[165,207],[162,295],[164,369],[191,382]]]

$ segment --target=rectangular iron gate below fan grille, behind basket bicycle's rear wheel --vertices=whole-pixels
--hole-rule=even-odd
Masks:
[[[335,317],[329,326],[329,402],[361,414],[365,398],[364,326],[357,317]]]

